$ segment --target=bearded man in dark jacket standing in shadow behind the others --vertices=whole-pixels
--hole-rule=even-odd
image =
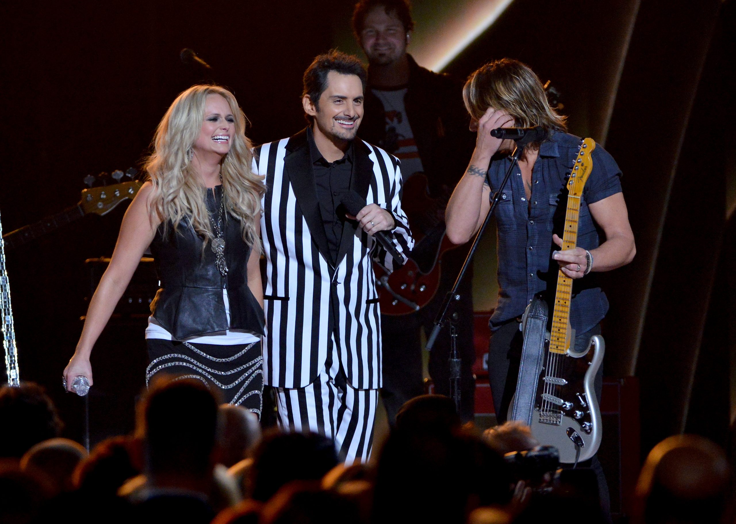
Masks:
[[[422,252],[431,252],[428,258],[436,254],[436,247],[431,246],[442,239],[445,226],[442,210],[465,159],[473,150],[473,135],[467,130],[461,83],[420,67],[406,52],[412,29],[414,21],[406,0],[361,0],[355,4],[353,31],[369,61],[361,137],[396,155],[401,160],[405,181],[412,174],[425,174],[431,196],[438,199],[439,216],[426,220],[424,206],[416,214],[411,212],[412,205],[416,208],[419,202],[424,202],[424,185],[420,183],[419,191],[413,191],[420,178],[407,185],[403,194],[403,208],[411,230],[417,238],[425,236],[417,242],[411,255],[420,261],[424,258]],[[403,403],[424,392],[420,330],[430,332],[442,299],[455,282],[466,255],[467,248],[453,249],[442,257],[439,288],[420,311],[381,317],[384,358],[381,397],[392,424]],[[457,310],[458,347],[463,363],[460,415],[464,422],[473,419],[475,397],[471,280],[472,273],[468,273]],[[450,330],[445,329],[436,340],[429,361],[434,391],[439,394],[450,393],[449,353]]]

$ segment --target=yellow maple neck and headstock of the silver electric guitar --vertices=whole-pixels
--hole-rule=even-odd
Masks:
[[[578,244],[578,216],[580,215],[580,199],[583,188],[592,170],[590,154],[595,149],[595,142],[586,138],[581,144],[575,167],[570,172],[567,182],[567,212],[565,213],[565,233],[562,235],[562,249],[575,249]],[[557,291],[554,300],[552,327],[550,330],[551,353],[565,354],[573,343],[570,339],[570,300],[573,296],[573,279],[562,272],[557,272]]]

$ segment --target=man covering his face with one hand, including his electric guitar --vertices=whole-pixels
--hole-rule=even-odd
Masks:
[[[588,347],[592,337],[601,332],[608,302],[596,283],[595,272],[623,266],[636,252],[621,192],[621,173],[601,146],[596,147],[590,139],[581,143],[567,134],[565,118],[548,104],[537,75],[516,60],[497,60],[479,68],[467,80],[463,96],[477,138],[470,165],[447,204],[447,236],[456,244],[468,241],[484,222],[492,195],[500,190],[495,209],[500,291],[490,320],[489,344],[495,412],[499,422],[506,419],[517,380],[521,380],[519,364],[527,332],[522,333],[520,322],[525,309],[533,302],[545,314],[548,307],[549,311],[554,308],[551,322],[543,317],[542,325],[551,334],[542,332],[539,344],[552,360],[542,361],[542,352],[538,352],[537,392],[516,393],[528,394],[533,400],[529,419],[534,424],[560,433],[559,444],[549,433],[544,433],[544,439],[535,433],[537,439],[558,447],[567,442],[579,457],[583,444],[578,439],[600,433],[596,427],[600,418],[590,417],[598,412],[601,395],[602,339],[594,337],[595,347],[590,351]],[[491,135],[500,127],[541,127],[544,131],[541,140],[525,147],[503,189],[500,184],[509,168],[508,153],[514,142]],[[599,238],[599,233],[604,238]],[[540,294],[545,298],[537,298]],[[579,380],[585,388],[566,392],[573,378],[555,375],[558,365],[554,359],[572,356],[584,361],[583,355],[593,355]],[[566,368],[563,365],[560,369]],[[589,425],[577,420],[586,417]],[[568,419],[577,422],[568,424]],[[563,450],[561,460],[562,455]],[[606,511],[608,490],[595,456],[591,465],[598,474]]]

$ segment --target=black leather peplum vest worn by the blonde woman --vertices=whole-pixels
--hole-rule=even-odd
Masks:
[[[222,185],[207,191],[207,207],[213,216],[219,211]],[[227,329],[263,334],[263,309],[248,288],[250,246],[241,235],[239,220],[227,214],[224,225],[227,275],[215,267],[215,254],[188,220],[174,230],[161,224],[151,243],[160,289],[151,304],[158,323],[181,340],[189,336]],[[227,323],[222,289],[227,288],[230,302],[230,325]]]

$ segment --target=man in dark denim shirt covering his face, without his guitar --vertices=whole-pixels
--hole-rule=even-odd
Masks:
[[[490,196],[500,188],[509,167],[503,153],[514,144],[493,138],[491,130],[541,126],[547,132],[541,144],[526,146],[495,210],[499,296],[490,321],[488,369],[495,412],[503,422],[517,383],[522,347],[518,319],[532,297],[545,290],[553,296],[560,267],[575,279],[570,324],[577,333],[576,347],[584,350],[590,337],[601,333],[600,322],[608,311],[595,272],[631,262],[636,248],[621,192],[621,171],[611,155],[597,146],[580,204],[578,247],[554,250],[562,247],[558,234],[565,222],[565,190],[580,139],[567,134],[565,118],[548,104],[534,71],[516,60],[496,60],[470,75],[463,97],[472,118],[471,130],[478,136],[470,166],[447,204],[447,236],[453,242],[467,241],[478,231],[490,208]],[[597,228],[604,233],[603,243]],[[601,367],[595,380],[598,399],[602,386]],[[607,511],[605,478],[597,459],[592,460]]]

